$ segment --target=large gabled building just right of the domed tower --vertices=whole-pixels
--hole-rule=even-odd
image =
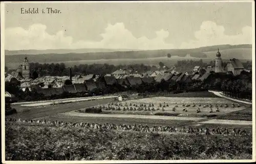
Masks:
[[[225,71],[231,71],[234,76],[240,75],[240,73],[244,71],[244,66],[240,60],[233,58],[226,64]]]

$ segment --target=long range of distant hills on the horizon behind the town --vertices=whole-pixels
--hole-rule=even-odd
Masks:
[[[177,60],[200,60],[208,61],[211,59],[215,59],[217,50],[220,50],[221,56],[223,59],[237,58],[237,59],[248,59],[251,60],[252,48],[250,44],[241,44],[241,45],[214,45],[214,46],[206,46],[197,49],[172,49],[172,50],[147,50],[147,51],[117,51],[110,49],[96,49],[105,50],[106,52],[89,52],[89,53],[73,53],[73,50],[67,50],[67,52],[71,53],[49,53],[49,54],[34,54],[29,55],[27,57],[30,62],[38,62],[38,63],[72,63],[72,65],[78,64],[86,64],[86,63],[108,63],[115,65],[117,64],[127,64],[140,62],[143,64],[149,64],[149,60],[155,60],[151,63],[155,64],[158,61],[177,61]],[[84,49],[77,50],[77,52],[81,52]],[[91,49],[93,50],[93,49]],[[96,51],[95,50],[95,51]],[[27,50],[22,50],[20,52],[25,52]],[[31,50],[37,51],[37,50]],[[65,50],[43,50],[46,51],[65,51]],[[74,50],[75,51],[75,50]],[[85,51],[85,50],[84,50]],[[89,51],[89,50],[88,50]],[[109,52],[108,52],[109,51]],[[114,51],[114,52],[110,52]],[[40,52],[40,50],[38,51]],[[8,67],[13,67],[13,65],[18,65],[23,62],[25,58],[25,54],[19,55],[10,55],[14,54],[12,51],[8,51],[9,55],[5,56],[5,63]],[[18,53],[18,52],[15,52]],[[167,54],[171,54],[171,58],[167,58]],[[166,58],[166,60],[165,60]],[[138,59],[136,61],[136,59]],[[79,62],[82,61],[82,62]],[[119,62],[119,63],[118,63]]]

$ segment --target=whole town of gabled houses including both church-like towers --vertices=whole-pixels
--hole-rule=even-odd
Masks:
[[[173,83],[190,83],[193,81],[204,81],[211,75],[211,72],[218,72],[224,74],[239,75],[242,71],[248,71],[244,68],[243,64],[238,59],[230,59],[230,61],[223,66],[220,58],[220,53],[217,53],[216,66],[195,66],[193,70],[181,72],[180,68],[167,67],[153,72],[145,72],[139,74],[136,71],[127,69],[118,69],[112,74],[101,75],[75,75],[72,76],[45,76],[31,79],[29,75],[29,62],[27,57],[24,59],[16,72],[5,75],[5,81],[17,79],[20,81],[20,88],[24,91],[26,88],[29,90],[36,89],[37,92],[44,93],[44,95],[59,95],[64,91],[88,92],[96,88],[105,89],[108,86],[120,84],[123,87],[140,85],[142,83],[160,83],[162,80]],[[24,76],[23,76],[24,74]],[[65,85],[66,80],[71,80],[72,85]]]

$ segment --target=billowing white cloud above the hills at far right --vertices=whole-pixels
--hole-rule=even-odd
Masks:
[[[210,46],[218,44],[251,44],[252,28],[245,26],[238,35],[226,35],[223,26],[218,26],[213,21],[204,21],[199,31],[195,32],[195,40],[183,42],[181,49],[199,48],[200,46]]]

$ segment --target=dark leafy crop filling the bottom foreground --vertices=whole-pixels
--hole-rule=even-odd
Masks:
[[[251,135],[165,135],[6,124],[6,160],[251,158]]]

